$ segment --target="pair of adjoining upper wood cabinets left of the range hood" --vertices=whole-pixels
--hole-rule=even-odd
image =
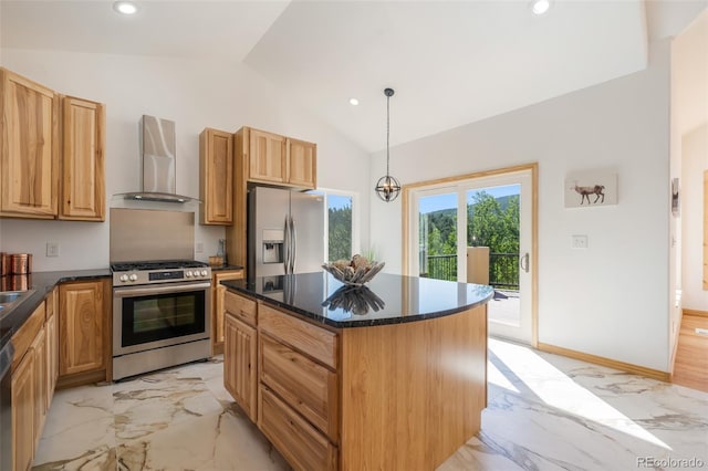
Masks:
[[[0,73],[0,216],[104,221],[104,105]]]

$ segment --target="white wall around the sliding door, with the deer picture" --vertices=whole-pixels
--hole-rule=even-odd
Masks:
[[[539,341],[668,370],[668,41],[650,45],[646,71],[391,156],[404,185],[538,161]],[[592,169],[618,174],[618,205],[565,209],[565,176]],[[372,185],[384,172],[377,153]],[[399,213],[399,200],[372,199],[372,243],[393,272],[400,271]],[[571,249],[572,234],[587,234],[590,248]]]

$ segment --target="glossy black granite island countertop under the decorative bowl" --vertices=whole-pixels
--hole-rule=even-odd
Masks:
[[[345,286],[326,272],[222,281],[332,327],[399,324],[456,314],[488,302],[491,286],[379,273],[365,286]]]

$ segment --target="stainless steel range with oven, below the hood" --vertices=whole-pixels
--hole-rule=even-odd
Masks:
[[[113,379],[208,358],[211,269],[192,260],[113,271]]]

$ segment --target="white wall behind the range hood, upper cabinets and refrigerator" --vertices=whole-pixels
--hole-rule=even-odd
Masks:
[[[55,91],[106,104],[106,197],[140,189],[138,123],[144,114],[177,126],[177,192],[199,196],[199,133],[253,126],[317,144],[317,184],[357,192],[368,209],[369,156],[244,65],[184,59],[3,49],[0,64]],[[198,216],[197,216],[198,220]],[[362,244],[368,244],[368,220]],[[34,271],[108,265],[108,226],[94,222],[0,219],[0,250],[32,252]],[[217,251],[223,228],[197,226]],[[45,243],[59,242],[59,258]]]

